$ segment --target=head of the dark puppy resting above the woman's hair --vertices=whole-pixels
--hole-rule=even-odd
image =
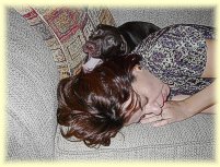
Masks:
[[[103,60],[126,52],[126,44],[117,27],[99,24],[83,46],[89,57]]]

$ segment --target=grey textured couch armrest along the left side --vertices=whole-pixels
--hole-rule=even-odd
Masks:
[[[50,50],[15,10],[8,10],[7,159],[51,159],[58,72]]]

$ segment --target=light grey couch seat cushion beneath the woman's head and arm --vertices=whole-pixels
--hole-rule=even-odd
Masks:
[[[182,122],[152,128],[132,124],[124,128],[109,146],[89,148],[83,142],[70,142],[59,128],[55,140],[57,159],[215,159],[215,120],[212,115],[197,115]]]

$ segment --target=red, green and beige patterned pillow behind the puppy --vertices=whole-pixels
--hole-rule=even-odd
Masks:
[[[115,25],[108,9],[20,7],[15,10],[50,48],[60,79],[79,72],[85,58],[82,45],[97,24]]]

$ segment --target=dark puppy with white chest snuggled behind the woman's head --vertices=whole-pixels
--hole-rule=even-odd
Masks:
[[[85,41],[83,51],[88,53],[88,58],[105,61],[118,55],[129,53],[149,34],[159,29],[160,27],[147,22],[127,22],[118,27],[100,24]]]

